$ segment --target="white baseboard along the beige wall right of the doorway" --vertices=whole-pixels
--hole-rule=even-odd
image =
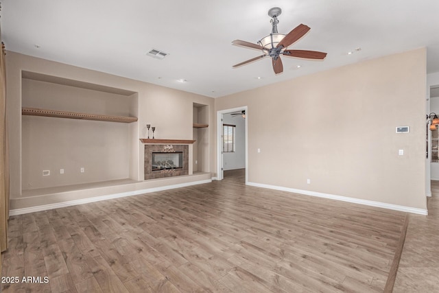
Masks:
[[[335,196],[333,194],[322,194],[320,192],[315,192],[315,191],[294,189],[294,188],[281,187],[281,186],[276,186],[276,185],[267,185],[267,184],[261,184],[261,183],[248,182],[247,185],[254,186],[254,187],[262,187],[262,188],[280,190],[280,191],[287,191],[287,192],[292,192],[294,194],[304,194],[306,196],[317,196],[319,198],[329,198],[331,200],[341,200],[344,202],[352,202],[355,204],[364,204],[364,205],[368,205],[371,207],[381,207],[383,209],[392,209],[394,211],[404,211],[406,213],[416,213],[419,215],[427,215],[428,214],[428,211],[426,209],[405,207],[405,206],[401,206],[401,205],[397,205],[397,204],[388,204],[385,202],[375,202],[372,200],[361,200],[359,198],[348,198],[346,196]]]

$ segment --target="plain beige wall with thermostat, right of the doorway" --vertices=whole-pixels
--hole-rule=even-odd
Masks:
[[[417,49],[220,97],[215,110],[248,106],[250,183],[426,209],[425,82]]]

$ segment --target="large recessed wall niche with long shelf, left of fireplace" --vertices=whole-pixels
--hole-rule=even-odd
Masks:
[[[137,93],[28,71],[21,81],[23,194],[138,180]]]

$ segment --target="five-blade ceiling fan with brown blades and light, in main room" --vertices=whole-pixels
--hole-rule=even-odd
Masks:
[[[272,23],[272,33],[259,40],[257,44],[249,43],[245,40],[234,40],[232,42],[233,45],[249,47],[252,49],[260,49],[263,51],[263,55],[238,63],[237,65],[233,65],[233,68],[246,65],[250,62],[262,59],[266,56],[270,56],[272,58],[274,73],[278,74],[283,72],[281,55],[316,60],[323,60],[327,56],[327,53],[320,51],[287,49],[289,45],[296,43],[296,41],[302,38],[302,36],[305,36],[305,34],[307,34],[307,32],[311,30],[311,28],[307,25],[300,24],[286,35],[278,33],[277,24],[279,21],[277,19],[277,16],[281,15],[281,12],[281,8],[278,7],[274,7],[268,10],[268,15],[272,17],[272,20],[270,21]]]

